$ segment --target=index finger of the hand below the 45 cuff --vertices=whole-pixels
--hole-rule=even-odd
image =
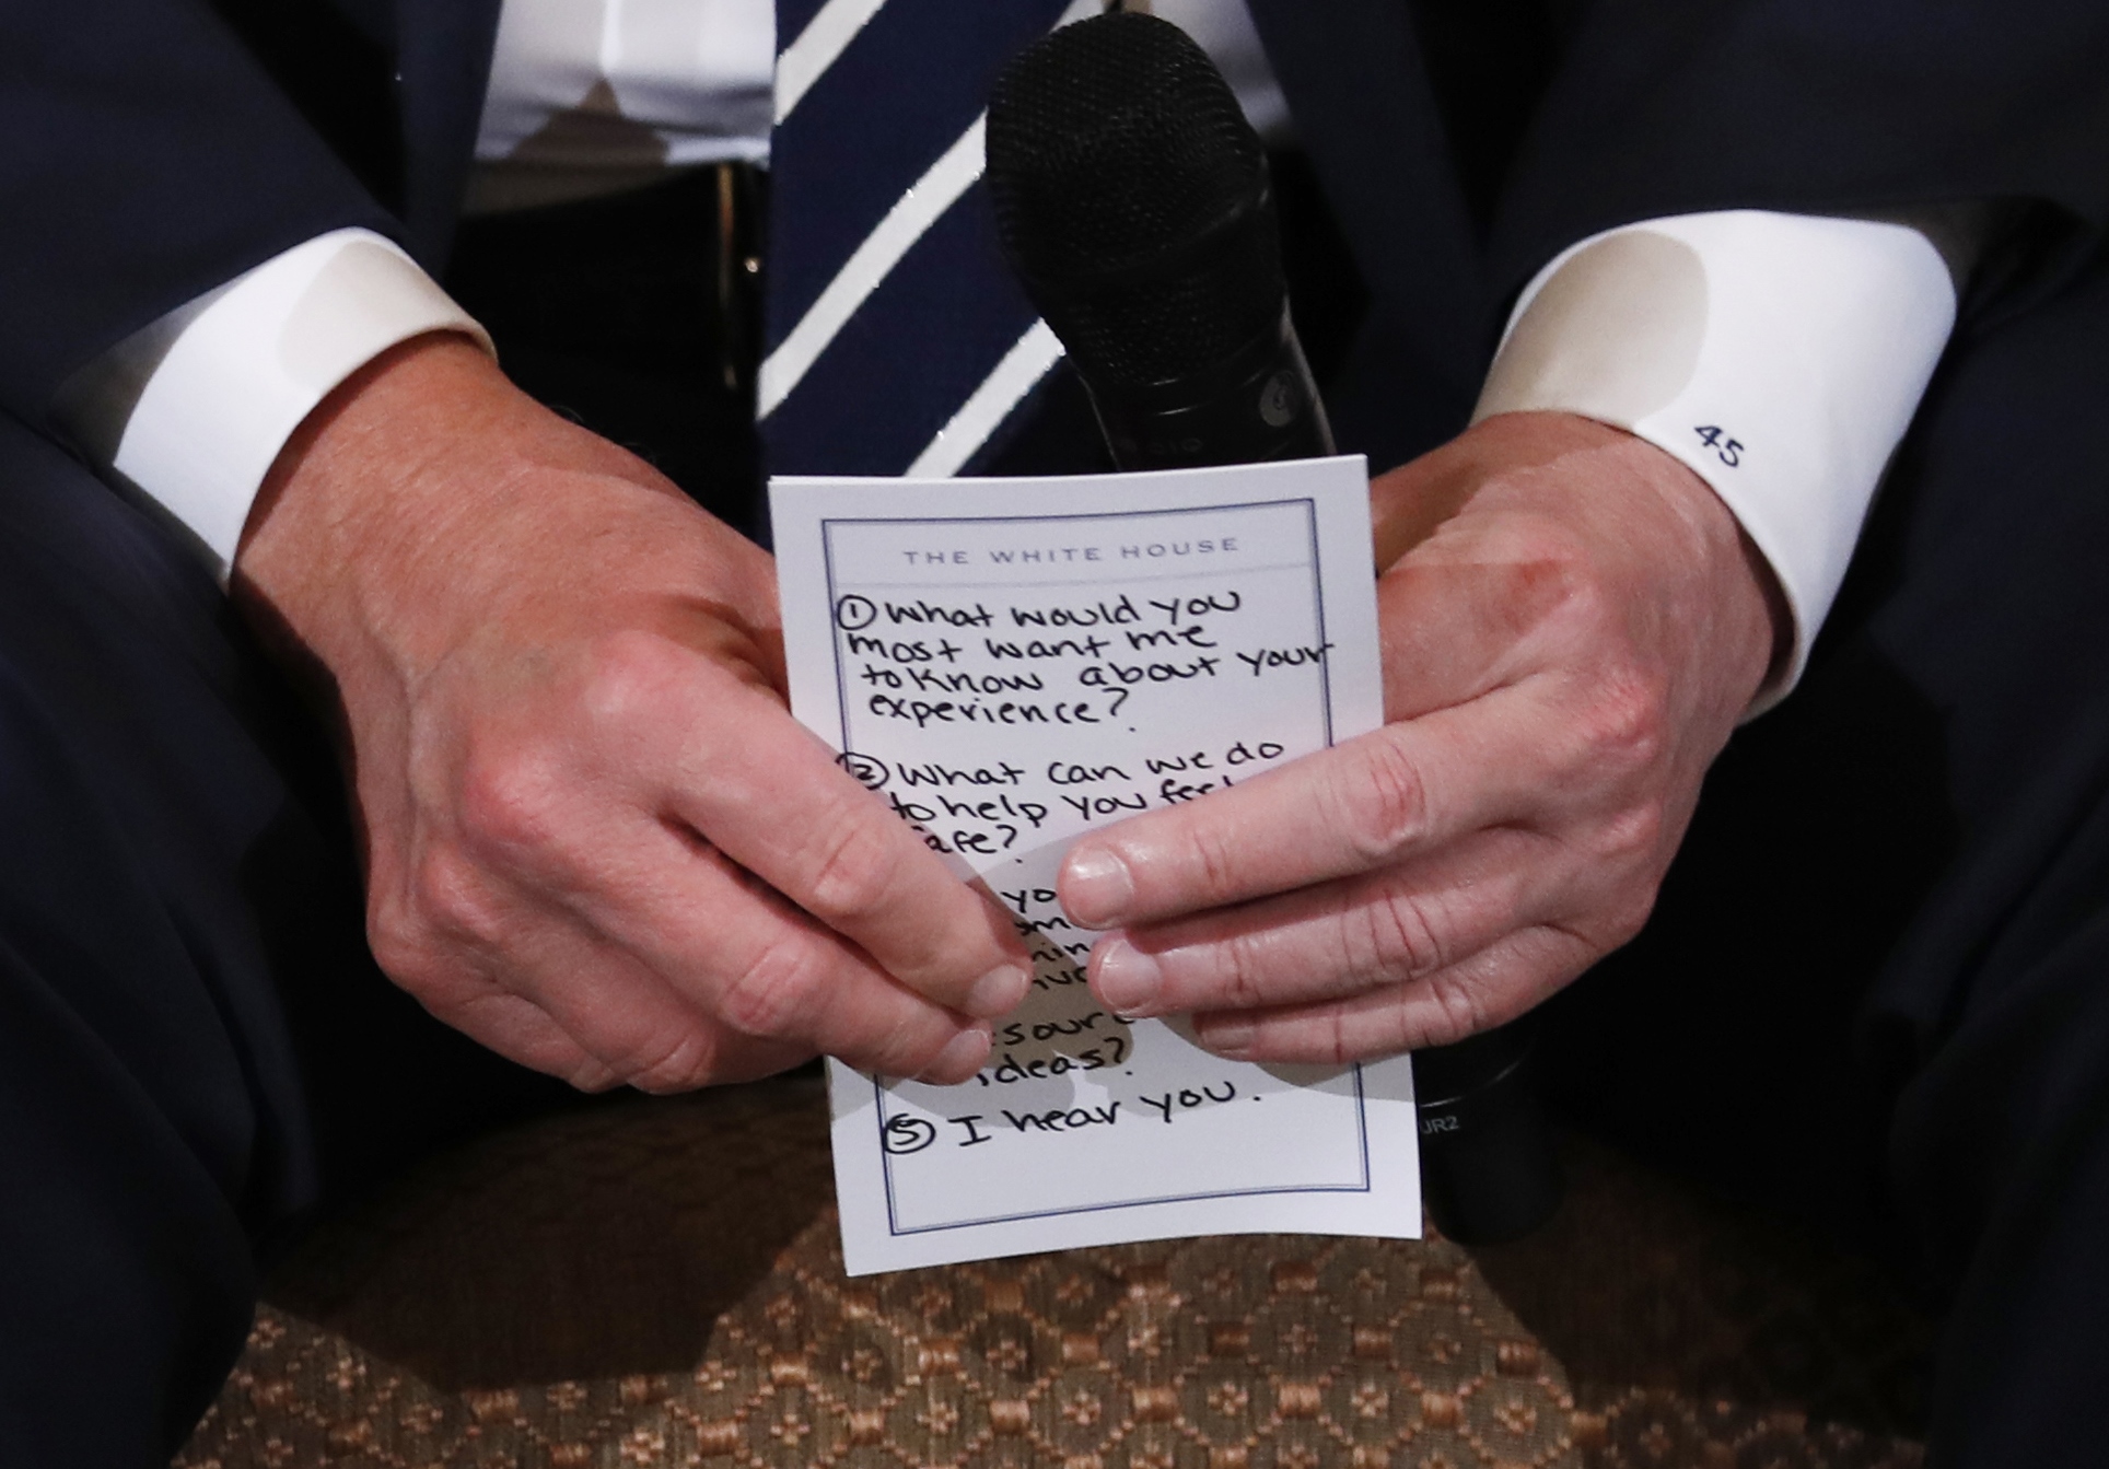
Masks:
[[[1386,725],[1090,833],[1057,883],[1084,927],[1156,923],[1432,851],[1544,803],[1559,763],[1529,685]]]

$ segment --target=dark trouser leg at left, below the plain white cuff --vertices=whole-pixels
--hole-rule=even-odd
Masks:
[[[327,748],[177,537],[6,417],[0,527],[0,1458],[139,1469],[255,1243],[525,1073],[373,967]]]

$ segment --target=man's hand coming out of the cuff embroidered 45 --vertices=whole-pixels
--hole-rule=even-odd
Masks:
[[[1653,445],[1493,417],[1371,487],[1386,727],[1086,837],[1090,982],[1253,1060],[1510,1020],[1639,932],[1784,603]]]

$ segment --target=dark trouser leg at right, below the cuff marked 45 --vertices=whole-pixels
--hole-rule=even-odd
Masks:
[[[1565,1100],[1902,1237],[1934,1458],[2109,1442],[2109,272],[1936,381],[1803,687],[1647,932],[1550,1014]]]

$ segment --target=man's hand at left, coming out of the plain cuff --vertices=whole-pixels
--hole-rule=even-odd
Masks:
[[[333,683],[375,957],[494,1050],[957,1081],[1025,993],[1008,919],[787,712],[770,559],[466,341],[316,409],[236,592]]]

